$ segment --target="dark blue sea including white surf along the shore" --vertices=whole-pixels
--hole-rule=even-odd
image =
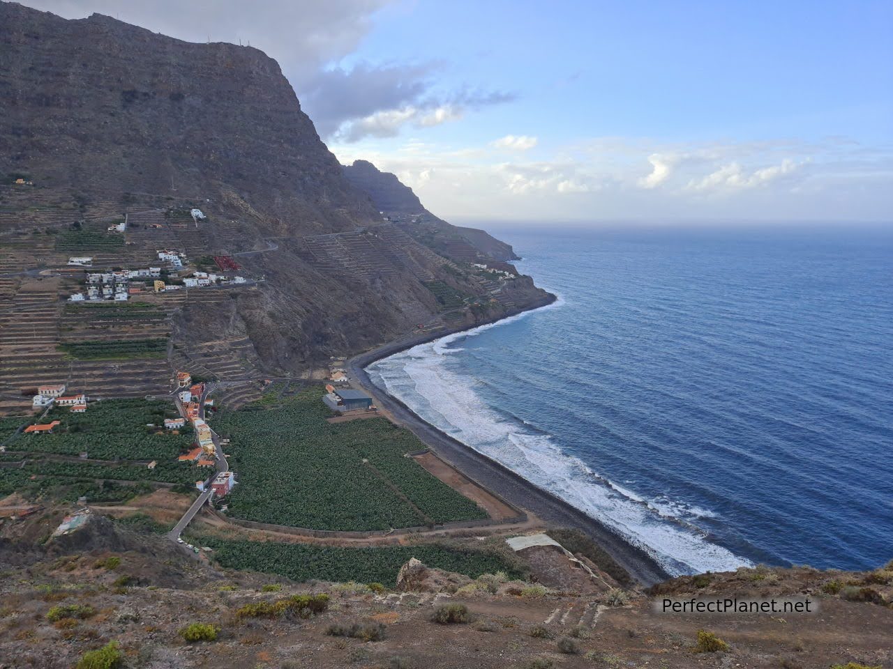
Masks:
[[[673,574],[893,558],[893,234],[495,232],[559,300],[376,384]]]

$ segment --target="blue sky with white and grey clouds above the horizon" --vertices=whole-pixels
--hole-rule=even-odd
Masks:
[[[26,0],[280,62],[441,218],[893,225],[893,3]]]

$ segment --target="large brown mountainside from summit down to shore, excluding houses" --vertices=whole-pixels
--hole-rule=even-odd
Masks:
[[[496,282],[473,267],[513,257],[488,235],[472,243],[434,217],[430,228],[382,220],[256,49],[0,2],[0,50],[0,293],[12,300],[0,320],[20,326],[21,308],[39,300],[46,325],[29,350],[12,330],[0,336],[0,358],[21,357],[0,369],[0,393],[72,373],[58,347],[81,329],[96,342],[138,336],[120,318],[96,327],[59,310],[79,286],[66,268],[75,252],[106,267],[157,264],[163,248],[186,252],[188,269],[233,260],[255,281],[152,298],[166,315],[153,336],[171,336],[170,368],[244,384],[308,376],[419,326],[472,325],[550,299],[530,277]],[[194,223],[191,207],[207,219]],[[106,235],[106,221],[125,214],[123,238]],[[74,364],[95,392],[121,392],[98,365]],[[163,387],[169,370],[152,364],[146,384],[123,392]]]

